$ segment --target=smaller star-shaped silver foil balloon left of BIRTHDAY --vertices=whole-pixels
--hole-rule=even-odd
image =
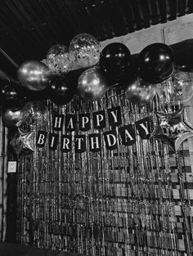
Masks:
[[[16,155],[20,155],[23,151],[34,151],[35,132],[25,132],[18,128],[15,136],[11,140],[11,146],[16,151]]]

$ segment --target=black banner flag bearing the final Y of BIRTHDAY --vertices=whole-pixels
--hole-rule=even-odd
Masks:
[[[137,121],[135,124],[141,139],[148,139],[152,128],[150,118],[146,117],[145,119]]]

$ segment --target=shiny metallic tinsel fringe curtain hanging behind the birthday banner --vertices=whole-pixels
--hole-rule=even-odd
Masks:
[[[123,124],[149,115],[155,120],[156,110],[164,112],[157,97],[148,106],[134,106],[121,88],[112,88],[98,101],[76,97],[62,107],[47,101],[49,119],[42,129],[53,132],[55,114],[114,106],[121,106]],[[132,146],[111,151],[104,146],[96,153],[62,153],[60,146],[52,151],[47,144],[19,159],[18,242],[90,256],[192,255],[187,141],[177,154],[162,142],[139,136]]]

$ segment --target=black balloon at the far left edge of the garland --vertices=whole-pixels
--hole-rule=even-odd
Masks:
[[[0,87],[0,100],[3,106],[18,109],[24,105],[26,99],[20,92],[20,85],[7,80],[2,84],[2,87]]]

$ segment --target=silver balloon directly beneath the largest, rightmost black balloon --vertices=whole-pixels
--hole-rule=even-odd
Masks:
[[[155,97],[156,87],[137,78],[126,88],[126,97],[136,105],[143,105]]]

